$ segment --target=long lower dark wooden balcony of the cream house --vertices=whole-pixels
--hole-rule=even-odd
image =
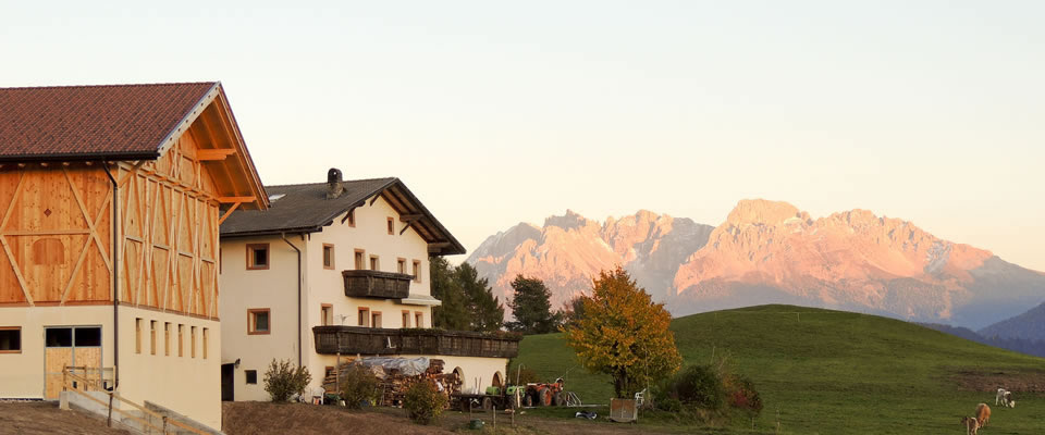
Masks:
[[[521,337],[441,330],[315,326],[316,351],[324,355],[443,355],[515,358]]]

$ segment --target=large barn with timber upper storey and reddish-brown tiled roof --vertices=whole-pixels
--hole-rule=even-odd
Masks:
[[[221,84],[2,88],[0,108],[0,398],[89,368],[220,427],[218,225],[268,204]]]

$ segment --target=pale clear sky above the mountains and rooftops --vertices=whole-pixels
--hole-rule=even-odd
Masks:
[[[1045,271],[1045,2],[148,3],[0,3],[0,86],[221,80],[265,184],[397,176],[469,250],[765,198]]]

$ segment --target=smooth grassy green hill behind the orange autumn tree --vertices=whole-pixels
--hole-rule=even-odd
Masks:
[[[714,352],[755,382],[765,403],[758,432],[779,421],[797,434],[958,434],[958,420],[986,402],[988,434],[1045,433],[1045,359],[898,320],[792,306],[694,314],[672,330],[685,364]],[[518,363],[549,380],[566,374],[585,402],[607,403],[613,393],[607,376],[578,365],[562,334],[526,337],[509,373]],[[994,406],[998,386],[1018,391],[1016,409]]]

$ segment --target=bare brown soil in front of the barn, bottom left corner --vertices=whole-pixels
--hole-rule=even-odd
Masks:
[[[0,435],[126,434],[79,411],[62,411],[56,402],[0,402]]]

